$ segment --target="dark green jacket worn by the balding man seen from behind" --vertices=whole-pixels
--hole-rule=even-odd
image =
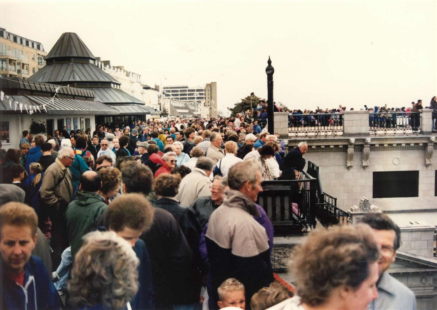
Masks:
[[[106,210],[102,196],[78,191],[76,199],[69,203],[65,212],[71,257],[74,258],[82,245],[82,237],[93,230],[97,219]]]

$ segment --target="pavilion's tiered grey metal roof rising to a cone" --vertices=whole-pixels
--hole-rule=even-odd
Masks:
[[[29,80],[92,90],[95,100],[119,111],[113,116],[96,116],[96,124],[130,124],[133,120],[145,120],[146,114],[160,114],[121,90],[121,83],[99,68],[95,60],[76,33],[65,32],[45,58],[46,65]]]

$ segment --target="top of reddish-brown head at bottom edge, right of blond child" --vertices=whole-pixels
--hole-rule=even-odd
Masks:
[[[253,294],[250,307],[252,310],[264,310],[291,297],[293,297],[293,293],[281,283],[274,281],[270,283],[269,287],[263,287]]]

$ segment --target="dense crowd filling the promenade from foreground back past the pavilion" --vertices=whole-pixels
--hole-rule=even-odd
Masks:
[[[0,158],[3,308],[414,309],[386,273],[400,240],[384,216],[310,233],[291,258],[294,296],[274,281],[256,202],[264,180],[299,178],[308,145],[285,154],[259,127],[237,115],[23,131]]]

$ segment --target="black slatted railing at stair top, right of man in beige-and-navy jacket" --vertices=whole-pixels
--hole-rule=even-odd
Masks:
[[[316,179],[304,174],[304,179],[264,181],[257,203],[266,211],[275,227],[275,234],[293,230],[297,225],[315,228]],[[295,227],[296,228],[296,227]],[[307,229],[305,229],[306,231]]]

